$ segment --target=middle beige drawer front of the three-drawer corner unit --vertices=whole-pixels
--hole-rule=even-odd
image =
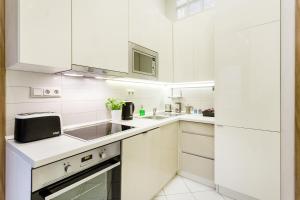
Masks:
[[[183,133],[182,151],[214,159],[214,138],[209,136]]]

